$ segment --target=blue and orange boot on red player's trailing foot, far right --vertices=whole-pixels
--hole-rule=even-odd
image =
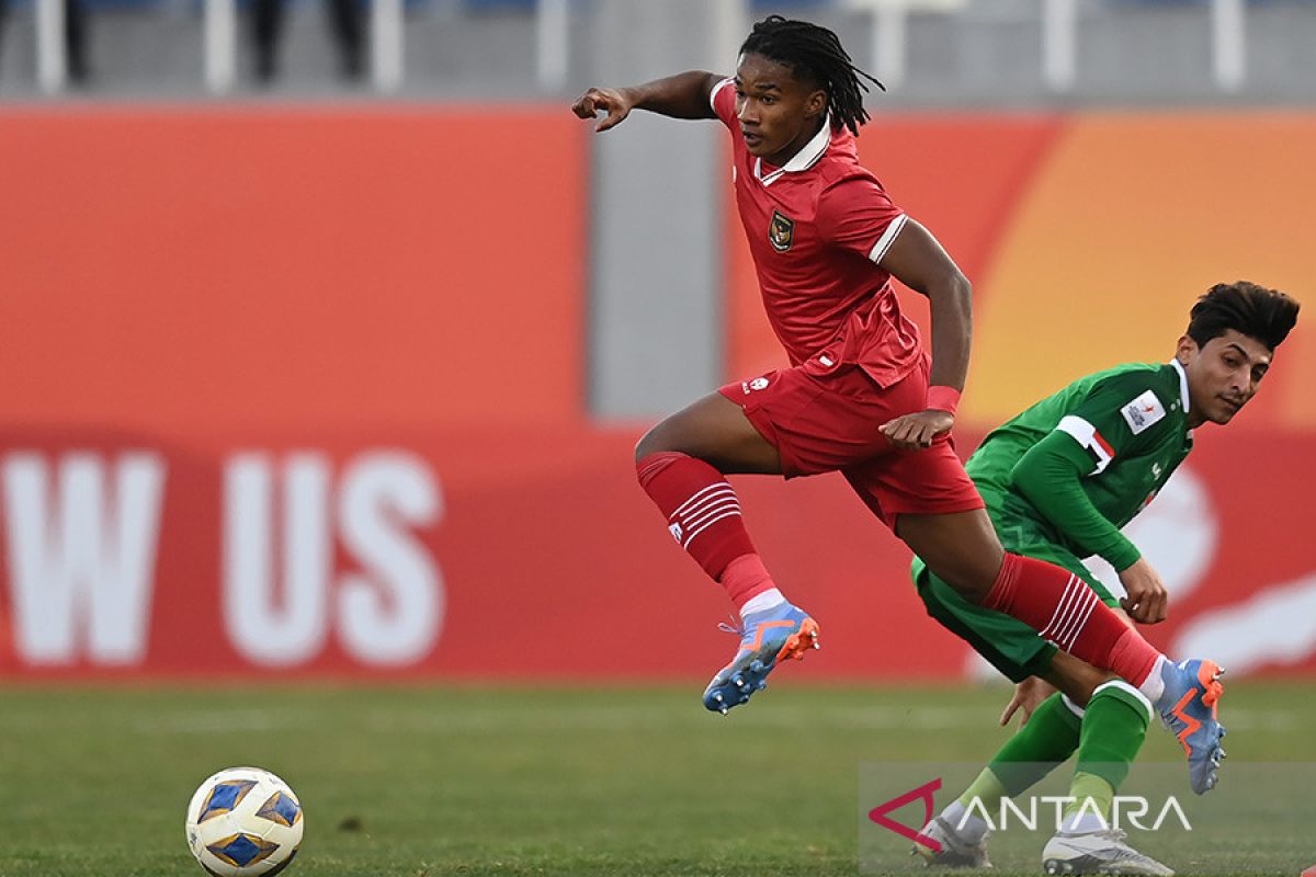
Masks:
[[[1161,668],[1165,693],[1157,701],[1161,721],[1179,738],[1188,756],[1188,781],[1192,790],[1205,794],[1216,786],[1220,763],[1225,751],[1220,739],[1225,735],[1220,724],[1217,705],[1225,693],[1220,682],[1224,671],[1215,661],[1192,659]]]

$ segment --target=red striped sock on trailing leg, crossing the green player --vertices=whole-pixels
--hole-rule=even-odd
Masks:
[[[1067,569],[1007,552],[983,601],[1013,615],[1074,657],[1142,685],[1161,656]]]

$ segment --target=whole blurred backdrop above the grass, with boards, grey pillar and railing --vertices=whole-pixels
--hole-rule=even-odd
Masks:
[[[569,107],[769,12],[887,84],[862,160],[975,284],[962,454],[1213,283],[1312,308],[1312,0],[8,0],[0,677],[697,688],[725,598],[632,447],[783,356],[724,129]],[[1311,318],[1130,529],[1234,676],[1316,672]],[[796,684],[982,673],[840,479],[738,486]]]

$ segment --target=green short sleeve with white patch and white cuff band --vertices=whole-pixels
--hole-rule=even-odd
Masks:
[[[1170,429],[1174,400],[1157,389],[1154,372],[1124,372],[1096,384],[1061,418],[1057,431],[1083,447],[1091,460],[1087,476],[1099,476],[1121,456],[1149,447]]]

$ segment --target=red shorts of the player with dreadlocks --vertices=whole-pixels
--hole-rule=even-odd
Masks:
[[[924,410],[926,356],[891,387],[878,387],[855,364],[832,366],[824,359],[720,391],[776,448],[786,477],[840,471],[891,529],[900,514],[983,508],[949,435],[921,451],[898,451],[878,429],[894,417]]]

